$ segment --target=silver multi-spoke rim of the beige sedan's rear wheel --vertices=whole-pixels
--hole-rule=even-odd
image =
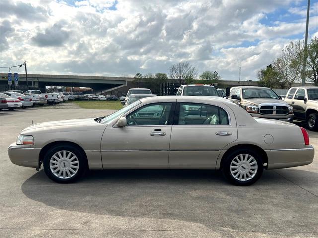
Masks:
[[[238,181],[248,181],[257,173],[257,162],[249,154],[240,154],[231,161],[230,172]]]

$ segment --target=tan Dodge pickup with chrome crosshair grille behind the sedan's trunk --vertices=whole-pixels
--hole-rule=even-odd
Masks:
[[[229,100],[240,105],[253,117],[289,122],[294,119],[293,107],[284,102],[271,88],[232,87]]]

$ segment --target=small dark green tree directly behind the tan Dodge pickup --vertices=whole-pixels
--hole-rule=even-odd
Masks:
[[[257,72],[259,84],[263,87],[277,88],[280,86],[281,78],[279,73],[272,65],[268,65],[265,69],[261,69]]]

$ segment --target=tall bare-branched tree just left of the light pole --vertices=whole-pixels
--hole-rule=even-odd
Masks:
[[[273,60],[276,71],[289,87],[301,78],[303,49],[303,42],[290,42],[282,50],[282,56]]]

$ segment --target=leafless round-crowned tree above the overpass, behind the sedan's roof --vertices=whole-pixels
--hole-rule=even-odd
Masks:
[[[197,73],[195,67],[191,66],[189,62],[181,61],[169,68],[169,74],[171,79],[176,79],[182,84],[187,78],[193,77],[194,79]]]

